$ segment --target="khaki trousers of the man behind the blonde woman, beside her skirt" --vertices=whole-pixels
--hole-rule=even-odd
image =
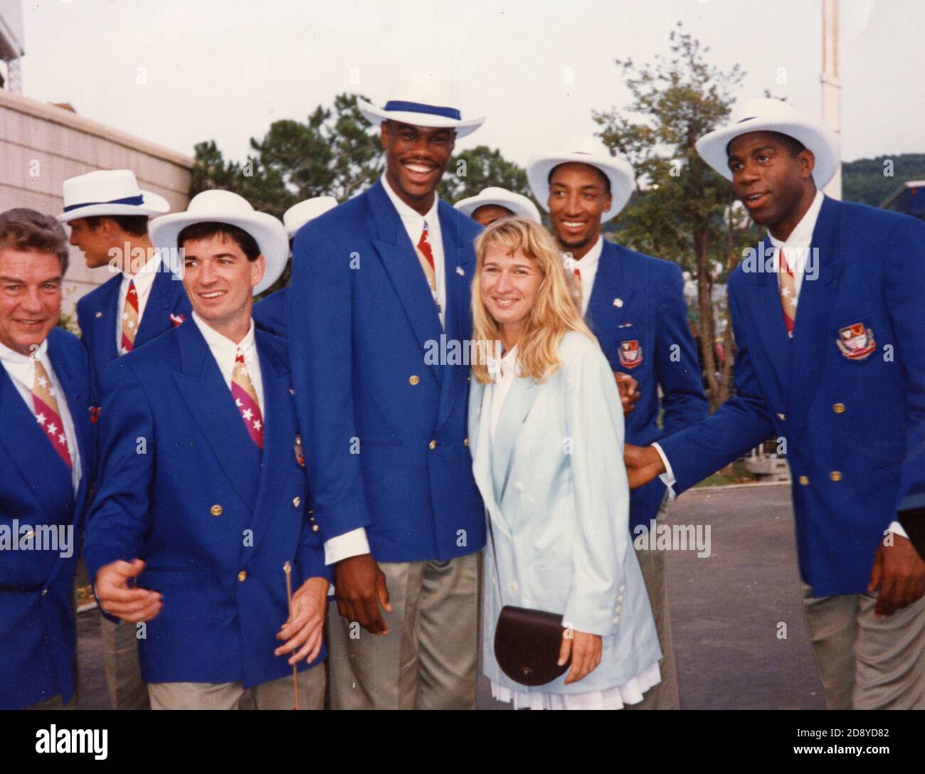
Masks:
[[[656,516],[657,525],[668,521],[668,498],[661,501]],[[659,633],[661,660],[659,670],[661,682],[653,685],[643,695],[638,704],[624,705],[624,709],[680,709],[681,697],[678,692],[678,672],[674,665],[674,645],[672,644],[672,616],[668,607],[668,580],[665,574],[665,552],[637,548],[636,559],[646,582],[646,593],[652,606],[655,628]]]

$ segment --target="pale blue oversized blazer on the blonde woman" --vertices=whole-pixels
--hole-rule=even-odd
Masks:
[[[491,442],[492,385],[472,380],[469,441],[494,534],[485,561],[485,674],[509,688],[583,694],[622,685],[661,657],[628,527],[623,411],[597,342],[567,333],[545,384],[516,379]],[[496,571],[497,568],[497,571]],[[563,613],[603,638],[600,666],[536,688],[510,681],[494,654],[504,605]],[[567,673],[566,673],[567,674]]]

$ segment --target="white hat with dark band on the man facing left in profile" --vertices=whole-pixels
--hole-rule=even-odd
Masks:
[[[58,223],[93,215],[163,215],[170,203],[150,190],[141,190],[130,169],[97,169],[68,178],[64,191],[64,212]]]

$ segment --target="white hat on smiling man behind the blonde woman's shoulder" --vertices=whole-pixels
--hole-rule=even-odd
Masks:
[[[534,198],[549,212],[549,174],[561,164],[586,164],[598,168],[611,181],[611,206],[600,217],[606,223],[619,213],[635,188],[635,172],[629,162],[611,156],[603,143],[593,137],[573,137],[558,153],[534,156],[527,163],[526,178]]]

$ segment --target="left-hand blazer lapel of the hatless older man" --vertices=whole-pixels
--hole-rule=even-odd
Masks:
[[[19,481],[29,488],[42,510],[57,520],[60,503],[74,498],[71,473],[3,366],[0,366],[0,415],[4,417],[0,445],[19,468]]]

